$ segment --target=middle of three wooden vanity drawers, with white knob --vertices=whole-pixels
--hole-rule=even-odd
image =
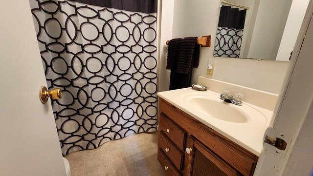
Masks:
[[[162,131],[159,133],[158,148],[162,149],[176,168],[181,171],[183,153],[164,135]]]

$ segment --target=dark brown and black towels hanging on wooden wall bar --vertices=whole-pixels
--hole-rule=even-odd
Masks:
[[[171,70],[169,90],[190,87],[192,68],[199,66],[197,37],[172,39],[168,43],[166,69]]]

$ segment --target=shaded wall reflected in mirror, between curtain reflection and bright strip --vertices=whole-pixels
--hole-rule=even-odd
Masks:
[[[276,59],[291,2],[260,0],[247,58]]]

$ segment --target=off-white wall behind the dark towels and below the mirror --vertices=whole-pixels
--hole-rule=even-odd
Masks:
[[[164,3],[168,0],[162,0]],[[212,35],[214,43],[219,20],[220,0],[176,0],[174,2],[173,30],[163,29],[163,20],[171,17],[163,15],[161,26],[161,47],[168,39],[188,36]],[[201,7],[201,10],[199,10]],[[205,8],[204,8],[205,7]],[[170,9],[167,9],[170,14]],[[172,38],[170,34],[172,32]],[[164,37],[163,37],[164,36]],[[199,68],[193,70],[192,83],[196,83],[199,76],[206,76],[207,60],[213,58],[214,46],[201,48]],[[159,63],[159,91],[168,90],[169,71],[165,69],[166,53],[160,53]],[[214,79],[239,84],[275,94],[279,94],[289,62],[214,58],[216,63]]]

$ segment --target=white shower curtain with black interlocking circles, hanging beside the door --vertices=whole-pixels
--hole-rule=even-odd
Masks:
[[[156,0],[30,0],[63,155],[156,131]]]

